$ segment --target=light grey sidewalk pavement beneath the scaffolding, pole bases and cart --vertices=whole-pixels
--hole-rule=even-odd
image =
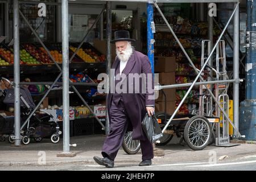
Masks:
[[[70,143],[77,144],[70,147],[70,152],[76,153],[75,157],[57,157],[63,152],[63,140],[57,144],[45,138],[40,143],[31,140],[28,145],[11,146],[9,142],[0,142],[0,166],[40,166],[57,164],[96,164],[93,156],[101,156],[101,148],[105,135],[84,135],[71,137]],[[217,159],[221,156],[228,156],[228,160],[236,160],[248,155],[256,155],[256,144],[240,143],[233,147],[207,146],[204,150],[193,151],[188,146],[179,144],[179,140],[174,137],[166,146],[156,146],[164,151],[164,156],[155,156],[152,160],[154,164],[172,164],[187,162],[205,162],[209,160],[212,151],[216,152]],[[128,155],[122,147],[117,154],[115,163],[139,163],[141,162],[141,151],[136,155]]]

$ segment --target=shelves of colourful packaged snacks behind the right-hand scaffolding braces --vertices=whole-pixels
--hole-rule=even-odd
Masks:
[[[178,15],[166,16],[172,30],[174,30],[179,42],[187,52],[189,58],[197,69],[200,69],[201,63],[201,42],[207,36],[208,24],[205,22],[193,22],[188,18]],[[155,56],[176,57],[175,83],[185,84],[193,82],[197,76],[196,72],[189,64],[187,57],[182,52],[179,44],[171,34],[162,17],[154,15],[156,27],[155,33]],[[215,28],[214,35],[218,31]],[[168,65],[168,64],[167,64]],[[168,85],[168,84],[167,84]],[[176,106],[179,105],[187,93],[188,87],[176,88]],[[178,114],[191,114],[197,111],[199,107],[199,86],[194,86],[184,104],[180,107]]]

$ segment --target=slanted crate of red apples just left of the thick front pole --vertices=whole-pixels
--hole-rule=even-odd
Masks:
[[[32,43],[22,43],[22,47],[26,49],[28,53],[35,57],[36,60],[40,61],[42,64],[54,64],[51,58],[46,52],[38,48]]]

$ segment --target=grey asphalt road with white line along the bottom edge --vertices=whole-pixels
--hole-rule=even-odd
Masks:
[[[224,159],[225,160],[225,159]],[[59,164],[54,166],[10,166],[0,167],[1,171],[255,171],[256,155],[216,163],[194,161],[186,163],[152,164],[140,167],[136,163],[118,163],[114,168],[97,164]]]

